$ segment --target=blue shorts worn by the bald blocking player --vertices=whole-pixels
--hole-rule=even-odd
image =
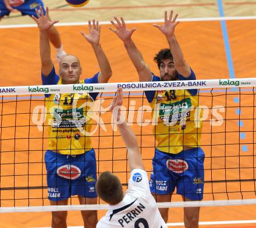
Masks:
[[[84,154],[72,156],[74,155],[46,151],[45,166],[49,200],[66,200],[75,195],[97,197],[95,151],[92,149]]]

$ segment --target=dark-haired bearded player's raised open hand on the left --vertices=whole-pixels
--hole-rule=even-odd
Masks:
[[[113,30],[113,28],[109,28],[109,29],[112,32],[115,32],[115,34],[118,35],[118,37],[120,39],[122,39],[122,41],[130,40],[131,35],[136,30],[136,28],[131,28],[131,30],[127,29],[126,24],[125,24],[125,20],[123,20],[123,17],[120,17],[122,23],[120,22],[118,17],[114,17],[114,19],[116,20],[116,23],[112,20],[110,22],[111,22],[111,24],[113,24],[113,26],[116,28],[116,30]]]

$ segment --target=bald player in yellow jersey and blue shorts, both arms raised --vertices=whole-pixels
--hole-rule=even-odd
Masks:
[[[100,26],[98,21],[93,20],[93,24],[89,21],[89,34],[81,34],[93,47],[101,71],[92,78],[80,80],[82,68],[79,59],[74,55],[66,55],[59,63],[58,75],[51,60],[49,45],[49,29],[58,21],[49,20],[48,8],[45,15],[35,11],[37,19],[34,19],[40,31],[42,84],[74,84],[74,90],[78,91],[46,95],[49,125],[48,150],[45,153],[48,198],[51,205],[66,205],[68,198],[73,195],[79,196],[80,204],[97,204],[96,160],[88,134],[91,130],[88,111],[98,93],[90,93],[90,84],[108,82],[112,75],[108,59],[99,44]],[[40,11],[43,12],[41,7]],[[88,93],[79,93],[81,86],[88,89]],[[81,213],[84,227],[95,228],[97,212]],[[52,227],[66,228],[66,217],[66,211],[52,212]]]

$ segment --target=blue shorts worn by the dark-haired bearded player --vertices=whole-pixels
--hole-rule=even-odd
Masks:
[[[152,194],[173,193],[190,200],[202,200],[204,193],[204,151],[200,147],[168,154],[155,149],[150,190]]]

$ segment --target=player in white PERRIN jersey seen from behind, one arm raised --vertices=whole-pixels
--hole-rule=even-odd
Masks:
[[[116,120],[122,122],[118,124],[118,128],[127,147],[130,180],[124,194],[117,176],[108,171],[99,175],[96,190],[98,196],[109,204],[109,209],[99,220],[97,228],[167,228],[150,193],[148,176],[144,170],[136,136],[127,126],[126,121],[120,121],[120,106],[122,106],[121,88],[116,92],[111,110],[117,116]]]

